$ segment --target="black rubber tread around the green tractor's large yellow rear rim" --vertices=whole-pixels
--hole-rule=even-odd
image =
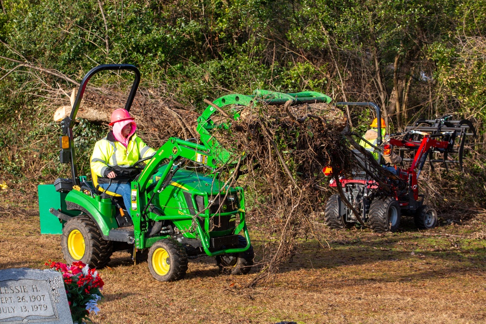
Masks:
[[[85,256],[83,256],[80,261],[97,269],[101,269],[106,266],[113,253],[113,242],[102,238],[98,226],[96,226],[96,223],[91,219],[91,217],[87,215],[74,217],[66,223],[64,228],[71,228],[71,230],[77,228],[80,230],[80,232],[82,232],[81,229],[84,228],[87,232],[87,236],[84,239],[91,244],[90,246],[86,247]],[[68,251],[67,239],[71,230],[67,230],[66,232],[63,230],[63,234],[61,235],[62,252],[64,258],[69,263],[77,261],[70,256]],[[83,234],[83,236],[85,235]]]

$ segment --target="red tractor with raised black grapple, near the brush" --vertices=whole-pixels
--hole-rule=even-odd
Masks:
[[[381,119],[380,108],[372,102],[338,102],[336,105],[371,106],[376,110],[377,119]],[[427,159],[432,170],[434,163],[444,164],[446,170],[449,164],[457,163],[462,170],[466,137],[476,135],[471,121],[451,120],[451,115],[435,120],[419,119],[414,126],[407,126],[403,133],[390,135],[384,140],[378,123],[376,146],[368,144],[380,154],[389,154],[393,147],[398,148],[402,166],[405,162],[408,167],[397,167],[396,172],[383,168],[371,153],[352,139],[351,134],[347,137],[355,147],[352,153],[357,162],[352,177],[345,177],[340,171],[333,172],[329,167],[323,169],[326,175],[332,176],[330,187],[340,192],[330,196],[326,203],[326,225],[339,229],[350,228],[356,222],[368,222],[375,232],[395,232],[400,216],[407,215],[414,216],[418,228],[434,228],[437,212],[424,204],[424,196],[418,191],[418,176]],[[438,158],[439,154],[442,158]]]

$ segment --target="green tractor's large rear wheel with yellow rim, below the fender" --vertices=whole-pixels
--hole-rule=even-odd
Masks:
[[[113,253],[113,243],[103,239],[98,226],[87,215],[71,218],[62,229],[61,248],[71,264],[81,261],[90,267],[103,268]]]

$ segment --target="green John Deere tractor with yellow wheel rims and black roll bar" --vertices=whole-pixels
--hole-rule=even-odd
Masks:
[[[96,176],[92,181],[78,176],[72,127],[87,82],[103,70],[135,74],[126,110],[137,92],[140,72],[133,65],[101,65],[85,75],[70,116],[61,122],[60,162],[70,164],[71,177],[38,187],[41,233],[61,234],[69,263],[102,268],[113,252],[131,250],[135,260],[148,258],[150,273],[159,281],[183,278],[188,259],[202,255],[215,256],[222,273],[248,273],[254,252],[243,189],[220,180],[220,161],[207,144],[171,137],[155,155],[139,160],[131,206],[100,191]]]

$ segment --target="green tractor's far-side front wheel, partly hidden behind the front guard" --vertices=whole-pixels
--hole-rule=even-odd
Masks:
[[[238,247],[246,246],[246,239],[238,235]],[[216,256],[216,263],[221,274],[248,274],[253,266],[255,252],[250,245],[248,250],[240,253],[231,253],[222,256]]]

